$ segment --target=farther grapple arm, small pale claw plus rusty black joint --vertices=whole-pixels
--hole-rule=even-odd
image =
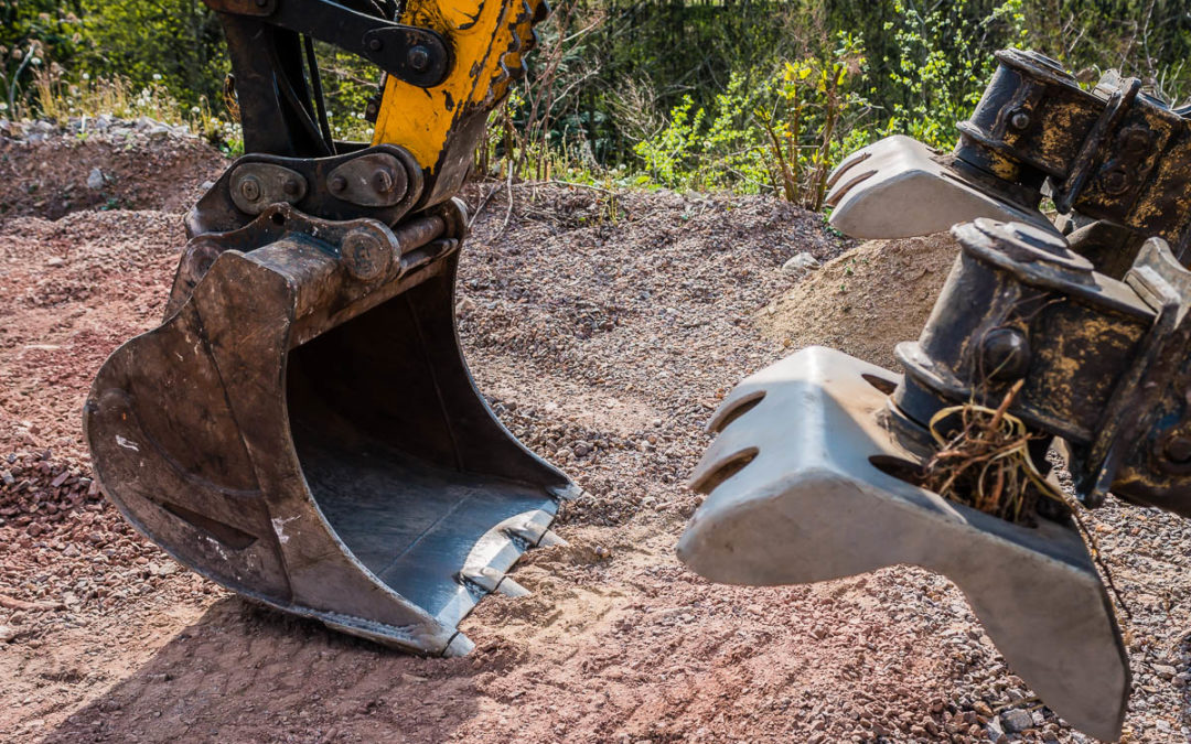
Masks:
[[[866,238],[927,235],[977,217],[1041,224],[1037,207],[1050,195],[1061,213],[1164,238],[1191,261],[1191,112],[1114,71],[1086,92],[1037,52],[1010,49],[997,61],[953,152],[890,138],[841,163],[827,198],[833,223]],[[936,208],[915,206],[924,201]],[[1128,267],[1139,246],[1112,248],[1129,254]]]

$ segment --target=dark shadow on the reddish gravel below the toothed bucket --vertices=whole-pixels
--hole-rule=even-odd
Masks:
[[[229,596],[44,740],[437,742],[478,709],[474,664]]]

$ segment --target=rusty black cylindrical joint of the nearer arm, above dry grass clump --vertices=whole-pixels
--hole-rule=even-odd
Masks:
[[[922,337],[897,348],[893,395],[919,423],[948,405],[1010,411],[1062,437],[1080,500],[1118,496],[1191,517],[1191,273],[1147,242],[1124,280],[1092,270],[1066,242],[991,220],[954,229],[961,254]],[[1018,360],[1006,367],[1005,337]],[[996,374],[994,374],[996,373]]]

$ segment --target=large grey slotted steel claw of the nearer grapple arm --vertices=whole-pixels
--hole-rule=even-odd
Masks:
[[[810,348],[729,395],[679,557],[724,583],[777,586],[919,565],[950,577],[1015,673],[1059,715],[1115,739],[1129,692],[1121,634],[1074,526],[1028,529],[903,481],[916,465],[886,395],[896,376]],[[883,469],[885,468],[885,469]],[[888,470],[888,471],[887,471]]]

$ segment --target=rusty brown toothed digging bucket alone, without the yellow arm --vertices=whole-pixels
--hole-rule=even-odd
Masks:
[[[86,406],[107,495],[200,574],[425,654],[578,488],[524,449],[459,348],[457,202],[397,229],[275,205],[194,238],[164,323]],[[235,250],[229,249],[235,246]]]

